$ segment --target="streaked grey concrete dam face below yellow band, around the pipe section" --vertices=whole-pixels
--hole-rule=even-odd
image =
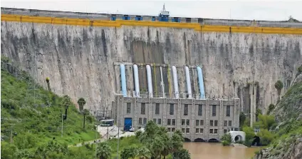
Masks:
[[[283,81],[283,91],[290,86],[302,63],[302,36],[1,21],[1,55],[45,88],[49,77],[51,90],[68,94],[74,103],[84,97],[85,108],[92,110],[110,107],[118,93],[114,61],[202,65],[207,97],[239,97],[249,111],[250,93],[264,108],[278,98],[276,81]]]

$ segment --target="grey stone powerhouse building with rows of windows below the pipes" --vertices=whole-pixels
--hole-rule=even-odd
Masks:
[[[186,140],[219,140],[224,133],[239,130],[239,98],[196,100],[117,95],[113,118],[120,128],[124,128],[125,118],[132,118],[135,130],[154,120],[169,132],[181,130]]]

